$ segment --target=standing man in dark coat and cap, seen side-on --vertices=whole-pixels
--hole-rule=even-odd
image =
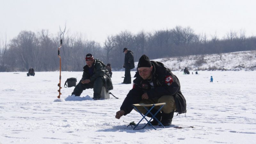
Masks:
[[[124,56],[124,82],[122,84],[131,84],[132,77],[131,77],[131,69],[135,68],[134,60],[133,60],[133,52],[124,48],[125,56]]]

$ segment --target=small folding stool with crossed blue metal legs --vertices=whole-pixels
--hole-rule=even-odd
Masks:
[[[148,122],[147,124],[145,124],[144,127],[139,128],[139,129],[135,129],[135,128],[140,124],[140,122],[139,122],[138,124],[135,125],[135,127],[133,128],[133,130],[144,129],[148,124],[151,125],[151,126],[156,130],[156,128],[150,123],[150,121],[151,121],[153,118],[155,118],[156,121],[164,128],[164,125],[163,125],[155,116],[156,116],[156,114],[164,107],[165,104],[166,104],[166,103],[156,103],[156,104],[144,104],[144,103],[139,103],[139,104],[133,104],[133,105],[132,105],[133,108],[135,108],[135,109],[140,113],[140,115],[142,116],[140,122],[141,122],[143,119],[145,119],[145,120]],[[152,114],[150,111],[151,111],[155,106],[160,106],[160,108],[157,110],[157,112],[156,112],[155,114]],[[136,108],[136,107],[144,107],[144,108],[147,110],[147,113],[146,113],[145,115],[143,115],[143,114],[138,110],[138,108]],[[151,107],[151,108],[148,109],[147,107]],[[146,116],[147,116],[148,114],[151,114],[151,116],[152,116],[149,121],[146,119]]]

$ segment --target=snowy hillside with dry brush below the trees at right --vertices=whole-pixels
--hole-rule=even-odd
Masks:
[[[190,55],[184,57],[162,58],[171,70],[256,70],[256,51],[231,52],[210,55]],[[135,62],[135,66],[138,62]],[[135,70],[135,69],[134,69]]]

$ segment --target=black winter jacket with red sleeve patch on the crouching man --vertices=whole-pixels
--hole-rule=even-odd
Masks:
[[[133,80],[133,88],[124,99],[120,110],[124,110],[124,115],[129,114],[133,109],[132,104],[140,103],[142,94],[147,92],[150,99],[172,95],[177,107],[176,112],[179,114],[186,113],[186,100],[180,91],[179,79],[172,74],[169,68],[165,68],[163,63],[151,61],[151,64],[153,66],[152,81],[154,88],[151,89],[148,80],[143,80],[140,76],[137,76]]]

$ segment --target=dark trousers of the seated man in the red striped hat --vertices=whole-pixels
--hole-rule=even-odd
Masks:
[[[74,91],[72,92],[72,95],[74,94],[76,96],[80,96],[85,89],[93,88],[93,98],[101,98],[101,89],[102,86],[104,86],[101,77],[97,77],[94,82],[90,82],[88,84],[82,84],[81,81],[82,80],[80,80],[80,82],[76,85]]]

